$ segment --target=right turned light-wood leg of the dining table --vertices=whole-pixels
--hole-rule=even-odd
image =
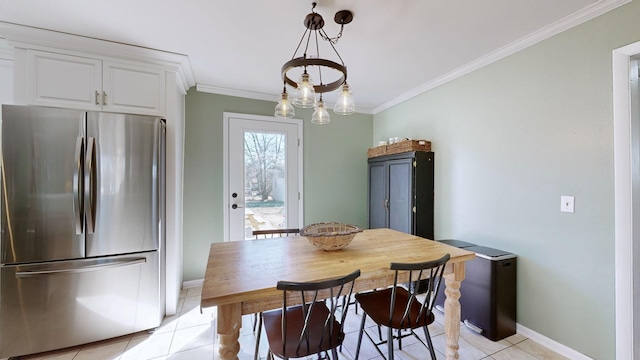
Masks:
[[[447,360],[458,359],[460,337],[460,283],[464,280],[464,262],[454,263],[453,272],[444,276],[447,298],[444,301],[444,333],[447,338]]]

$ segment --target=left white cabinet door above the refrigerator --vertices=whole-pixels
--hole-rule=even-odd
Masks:
[[[27,76],[31,105],[100,110],[100,60],[29,50]]]

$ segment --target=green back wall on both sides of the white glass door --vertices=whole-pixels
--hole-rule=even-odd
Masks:
[[[277,95],[277,94],[276,94]],[[275,95],[274,95],[275,97]],[[202,279],[209,247],[223,237],[223,113],[273,116],[276,103],[203,93],[186,97],[184,162],[184,280]],[[328,125],[304,120],[304,224],[367,225],[367,148],[372,115],[331,116]]]

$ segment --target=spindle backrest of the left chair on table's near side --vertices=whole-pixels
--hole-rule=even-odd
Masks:
[[[278,282],[278,290],[283,291],[282,354],[290,357],[307,356],[335,349],[342,344],[349,299],[359,276],[360,270],[356,270],[346,276],[318,282]],[[291,307],[289,304],[302,305]],[[292,308],[294,311],[287,311]],[[338,309],[340,314],[336,315]],[[302,315],[303,324],[295,324],[294,318],[299,315]],[[291,326],[294,327],[291,329],[293,331],[287,331],[287,327]],[[291,356],[293,349],[296,356]]]

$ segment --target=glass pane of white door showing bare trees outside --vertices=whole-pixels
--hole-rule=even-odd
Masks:
[[[286,227],[286,136],[245,132],[245,213],[253,230]]]

